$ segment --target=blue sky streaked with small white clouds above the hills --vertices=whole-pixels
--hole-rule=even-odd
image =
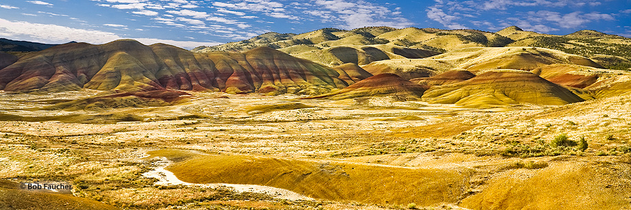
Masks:
[[[631,37],[631,0],[43,0],[0,1],[0,38],[103,44],[133,38],[191,49],[267,31],[435,27],[547,34],[594,29]]]

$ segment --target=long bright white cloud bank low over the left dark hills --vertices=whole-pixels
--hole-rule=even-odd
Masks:
[[[28,39],[34,42],[65,43],[70,41],[88,42],[91,44],[104,44],[126,37],[105,31],[91,29],[76,29],[53,24],[28,23],[25,21],[8,21],[0,18],[0,35],[6,38]],[[132,38],[143,44],[165,43],[184,49],[193,49],[201,45],[212,46],[222,44],[219,42],[193,42],[162,40],[156,38]]]

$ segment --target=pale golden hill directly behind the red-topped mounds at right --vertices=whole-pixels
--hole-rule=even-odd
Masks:
[[[486,69],[531,70],[549,64],[578,64],[602,68],[585,57],[534,47],[472,47],[425,59],[372,62],[363,68],[373,75],[394,73],[405,79],[414,79],[438,75],[454,68],[475,73]]]

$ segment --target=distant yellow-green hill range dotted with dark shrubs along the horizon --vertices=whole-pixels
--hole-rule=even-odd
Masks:
[[[542,47],[556,49],[565,53],[591,58],[598,64],[613,69],[631,68],[631,39],[604,34],[599,31],[583,30],[565,36],[540,34],[512,26],[497,32],[472,29],[444,30],[409,27],[395,29],[392,27],[364,27],[353,30],[319,29],[303,34],[267,33],[239,42],[230,42],[213,47],[198,47],[195,52],[211,51],[242,52],[256,47],[271,47],[290,55],[302,57],[327,66],[336,66],[352,62],[365,65],[366,62],[390,60],[396,58],[415,59],[409,53],[394,53],[401,57],[366,57],[361,51],[366,47],[375,47],[388,54],[379,46],[391,49],[410,49],[446,52],[468,47]],[[341,57],[357,57],[352,60],[340,59],[331,55],[332,49],[346,47]],[[358,50],[350,50],[358,49]],[[392,52],[390,52],[392,53]],[[357,56],[355,56],[357,54]],[[362,57],[364,59],[362,60]]]

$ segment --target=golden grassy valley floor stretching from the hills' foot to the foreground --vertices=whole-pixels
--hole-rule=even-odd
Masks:
[[[94,94],[0,92],[0,191],[7,192],[0,209],[67,209],[86,200],[95,209],[631,206],[631,96],[466,109],[386,97],[191,92],[165,107],[45,109]],[[160,176],[160,167],[195,184],[147,176]],[[53,181],[73,189],[15,187]]]

